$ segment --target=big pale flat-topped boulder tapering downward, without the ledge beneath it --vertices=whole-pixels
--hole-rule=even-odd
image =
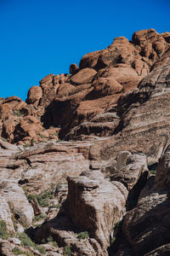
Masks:
[[[77,227],[99,241],[105,253],[113,228],[123,216],[126,198],[122,183],[110,183],[98,172],[94,177],[68,177],[68,214]]]

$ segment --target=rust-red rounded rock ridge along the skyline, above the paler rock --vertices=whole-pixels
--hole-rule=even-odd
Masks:
[[[71,64],[71,76],[49,74],[32,86],[26,102],[1,99],[2,136],[20,144],[57,139],[58,133],[65,139],[111,136],[120,121],[120,96],[165,63],[169,45],[169,33],[154,29],[135,32],[132,42],[115,38],[106,49],[84,55],[79,68]]]

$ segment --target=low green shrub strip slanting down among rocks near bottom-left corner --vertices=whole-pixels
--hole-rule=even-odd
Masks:
[[[31,241],[31,238],[26,235],[26,233],[19,233],[18,238],[21,241],[21,245],[24,247],[32,247],[35,250],[38,250],[39,253],[45,254],[46,250],[44,247],[38,246],[33,241]]]

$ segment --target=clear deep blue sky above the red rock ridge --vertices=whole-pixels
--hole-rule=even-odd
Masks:
[[[69,73],[113,38],[170,32],[169,0],[0,0],[0,96],[26,99],[49,73]]]

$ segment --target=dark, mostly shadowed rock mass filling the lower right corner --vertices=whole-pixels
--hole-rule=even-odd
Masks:
[[[169,249],[169,153],[159,160],[156,177],[148,180],[137,206],[127,212],[122,230],[137,255],[168,255]],[[152,180],[151,180],[152,178]],[[167,253],[167,254],[166,254]]]

